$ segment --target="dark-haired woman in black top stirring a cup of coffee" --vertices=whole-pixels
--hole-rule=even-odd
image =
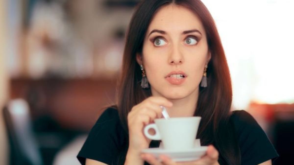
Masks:
[[[216,25],[199,0],[145,0],[131,19],[117,106],[109,107],[78,154],[81,164],[271,164],[278,156],[245,111],[230,113],[230,74]],[[197,138],[209,146],[196,161],[156,160],[145,125],[161,118],[201,116]],[[148,162],[148,163],[147,163]]]

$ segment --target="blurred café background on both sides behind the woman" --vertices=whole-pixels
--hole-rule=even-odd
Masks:
[[[124,37],[140,0],[0,0],[0,164],[79,164],[115,102]],[[203,0],[233,82],[233,110],[294,154],[294,1]],[[292,20],[292,21],[291,21]]]

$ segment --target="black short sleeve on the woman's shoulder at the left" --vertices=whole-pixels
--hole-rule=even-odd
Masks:
[[[78,161],[84,165],[88,158],[109,165],[113,164],[112,161],[122,145],[121,131],[117,110],[106,109],[88,134],[86,142],[77,155]]]

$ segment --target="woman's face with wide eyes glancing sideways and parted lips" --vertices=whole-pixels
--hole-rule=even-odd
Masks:
[[[193,12],[177,5],[160,9],[148,27],[142,53],[137,62],[143,63],[153,96],[198,95],[211,55],[204,27]]]

